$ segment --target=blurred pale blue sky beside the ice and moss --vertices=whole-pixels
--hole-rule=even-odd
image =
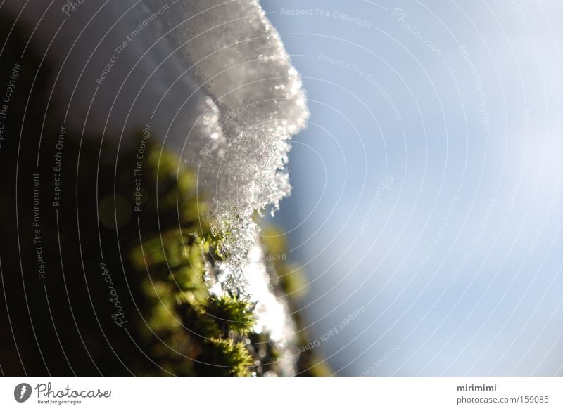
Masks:
[[[562,5],[262,6],[311,111],[274,220],[311,339],[366,308],[316,349],[339,374],[562,375]]]

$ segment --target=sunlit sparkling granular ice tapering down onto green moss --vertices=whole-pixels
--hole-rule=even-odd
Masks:
[[[160,2],[149,4],[156,9]],[[226,286],[244,291],[246,254],[258,230],[253,215],[278,209],[291,191],[287,153],[308,118],[305,93],[258,1],[196,0],[182,7],[166,20],[167,39],[213,96],[224,138],[220,150],[185,150],[184,158],[198,164],[199,185],[213,198],[213,229],[224,237],[232,266]]]

